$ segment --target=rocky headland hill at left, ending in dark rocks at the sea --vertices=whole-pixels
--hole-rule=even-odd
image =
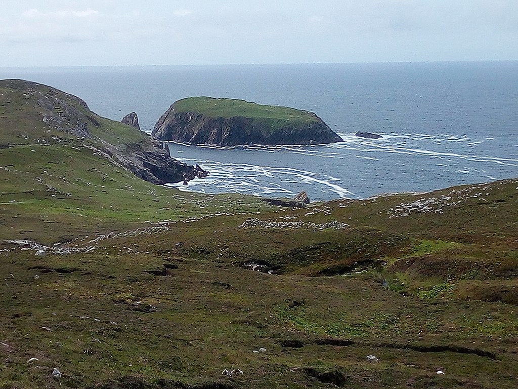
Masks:
[[[0,145],[80,143],[153,184],[180,182],[191,166],[146,133],[99,117],[76,96],[24,80],[0,80]]]

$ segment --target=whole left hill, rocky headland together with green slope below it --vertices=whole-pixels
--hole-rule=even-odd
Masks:
[[[78,231],[226,213],[232,204],[241,211],[264,209],[253,198],[151,184],[182,179],[184,170],[192,166],[170,158],[149,135],[99,117],[73,95],[29,81],[0,81],[2,239],[50,244]]]

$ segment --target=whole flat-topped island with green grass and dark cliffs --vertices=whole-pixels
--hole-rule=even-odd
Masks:
[[[210,97],[178,100],[156,122],[152,135],[161,141],[218,146],[343,141],[312,112]]]

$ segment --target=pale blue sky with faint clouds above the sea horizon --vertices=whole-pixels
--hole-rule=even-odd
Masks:
[[[2,0],[0,66],[518,60],[518,0]]]

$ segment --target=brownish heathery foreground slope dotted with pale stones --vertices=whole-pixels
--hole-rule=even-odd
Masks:
[[[515,387],[518,301],[504,300],[516,297],[517,186],[458,187],[457,205],[442,213],[390,218],[401,204],[451,189],[90,237],[84,244],[100,247],[92,254],[35,261],[11,251],[4,387],[56,386],[54,366],[65,387],[128,376],[149,387]],[[350,227],[239,228],[250,217]],[[250,261],[278,274],[244,268]],[[342,275],[308,276],[334,273]],[[267,352],[252,352],[260,347]],[[25,365],[33,356],[41,369]],[[244,374],[222,377],[224,368]]]

